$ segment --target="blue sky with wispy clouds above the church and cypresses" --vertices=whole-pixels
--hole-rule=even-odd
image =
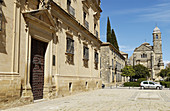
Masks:
[[[153,45],[156,25],[162,32],[164,63],[170,62],[170,0],[101,0],[100,36],[106,41],[107,17],[121,51],[132,55],[144,42]]]

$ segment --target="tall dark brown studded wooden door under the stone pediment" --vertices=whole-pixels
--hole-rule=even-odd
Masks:
[[[32,39],[30,84],[34,100],[43,98],[44,88],[44,58],[47,43]]]

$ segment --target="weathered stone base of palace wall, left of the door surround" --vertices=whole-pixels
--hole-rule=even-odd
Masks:
[[[19,75],[0,76],[0,109],[13,106],[21,97],[21,79]]]

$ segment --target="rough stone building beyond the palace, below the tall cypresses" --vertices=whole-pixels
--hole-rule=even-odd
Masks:
[[[121,69],[125,66],[126,58],[110,43],[101,45],[101,78],[104,84],[116,84],[125,81]],[[125,54],[125,53],[124,53]]]

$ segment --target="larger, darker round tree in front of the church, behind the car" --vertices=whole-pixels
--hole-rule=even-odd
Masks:
[[[135,65],[134,70],[135,70],[134,78],[136,79],[150,77],[148,68],[141,64]]]

